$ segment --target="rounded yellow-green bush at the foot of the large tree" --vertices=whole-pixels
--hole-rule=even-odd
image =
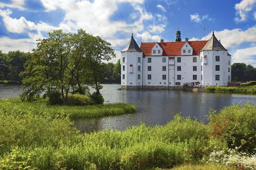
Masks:
[[[68,95],[68,105],[93,105],[93,99],[87,95]]]

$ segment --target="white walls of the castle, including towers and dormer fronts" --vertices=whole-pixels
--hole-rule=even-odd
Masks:
[[[152,46],[150,56],[143,56],[143,49],[124,51],[121,57],[121,85],[132,88],[180,87],[185,83],[227,86],[231,81],[231,56],[227,50],[202,49],[200,55],[193,55],[193,50],[186,40],[180,48],[180,56],[163,56],[164,48],[158,42]]]

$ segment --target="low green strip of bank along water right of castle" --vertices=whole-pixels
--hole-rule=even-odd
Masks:
[[[205,87],[207,92],[227,92],[233,94],[256,94],[256,87],[222,87],[208,86]]]

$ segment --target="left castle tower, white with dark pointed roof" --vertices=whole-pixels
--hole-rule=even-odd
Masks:
[[[121,54],[121,88],[142,88],[143,52],[134,40],[133,33]]]

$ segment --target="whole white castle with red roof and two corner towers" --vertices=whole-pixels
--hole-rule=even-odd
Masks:
[[[121,57],[121,87],[179,88],[189,86],[227,86],[231,81],[231,55],[212,33],[208,40],[142,42],[133,34]]]

